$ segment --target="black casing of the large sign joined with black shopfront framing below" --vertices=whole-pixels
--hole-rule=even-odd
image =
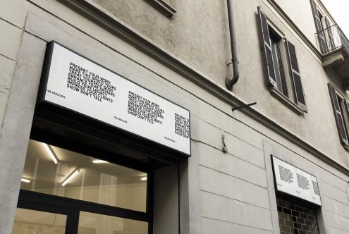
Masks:
[[[66,214],[66,227],[68,228],[66,234],[75,234],[78,232],[80,211],[130,218],[136,221],[145,221],[148,223],[148,233],[153,233],[154,170],[169,164],[178,166],[180,161],[188,159],[190,154],[184,154],[183,152],[179,152],[176,149],[159,144],[145,137],[129,133],[113,125],[91,118],[90,116],[85,116],[82,113],[66,109],[62,106],[49,103],[48,101],[42,101],[44,92],[46,91],[53,49],[52,45],[54,43],[59,44],[52,41],[47,45],[47,53],[44,59],[42,79],[40,80],[30,139],[146,172],[146,211],[142,212],[123,209],[121,207],[111,207],[104,204],[23,189],[20,189],[18,208]],[[64,47],[63,45],[61,46]],[[65,48],[68,49],[67,47]],[[71,49],[68,50],[72,51]],[[78,54],[75,51],[73,52]],[[80,54],[78,55],[81,56]],[[85,56],[82,57],[86,58]],[[89,58],[86,59],[91,61]],[[94,61],[91,62],[94,63]],[[96,64],[99,65],[98,63]],[[105,69],[109,70],[108,68]],[[112,70],[109,71],[115,73]],[[122,75],[120,76],[123,77]],[[127,78],[125,79],[128,80]],[[133,82],[132,80],[129,81]],[[151,90],[148,91],[152,92]],[[140,154],[140,157],[133,157],[132,154]]]

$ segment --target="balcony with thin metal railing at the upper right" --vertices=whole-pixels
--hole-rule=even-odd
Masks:
[[[332,68],[342,81],[343,88],[349,89],[349,39],[341,27],[332,25],[317,32],[322,51],[322,65]]]

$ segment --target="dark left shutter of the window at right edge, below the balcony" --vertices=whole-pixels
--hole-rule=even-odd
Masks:
[[[339,106],[340,104],[338,102],[336,90],[331,84],[329,84],[329,93],[332,101],[334,117],[336,118],[339,137],[343,144],[348,144],[348,137],[347,133],[345,132],[343,113],[341,111],[341,106]]]

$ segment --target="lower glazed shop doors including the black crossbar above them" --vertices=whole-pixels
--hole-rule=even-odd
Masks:
[[[148,233],[147,218],[142,214],[103,208],[21,190],[12,233]]]

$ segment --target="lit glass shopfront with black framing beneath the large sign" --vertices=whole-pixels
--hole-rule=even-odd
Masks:
[[[12,233],[152,233],[149,181],[147,168],[30,140]]]

